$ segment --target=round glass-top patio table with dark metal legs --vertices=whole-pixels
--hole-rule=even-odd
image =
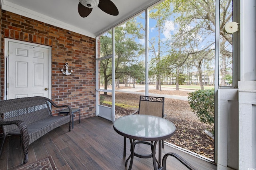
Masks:
[[[159,144],[159,157],[158,161],[156,160],[156,143],[163,139],[167,139],[174,135],[176,127],[175,125],[164,119],[162,117],[151,116],[151,115],[128,115],[124,117],[120,117],[116,119],[113,123],[114,130],[130,139],[131,143],[131,154],[129,158],[125,162],[125,166],[127,166],[128,160],[130,160],[130,166],[128,170],[132,169],[133,157],[138,156],[140,158],[149,158],[148,156],[143,156],[134,152],[134,147],[137,143],[146,143],[143,141],[153,141],[154,144],[152,146],[152,154],[154,170],[157,169],[156,162],[158,163],[158,167],[161,165],[161,144]],[[134,141],[138,140],[138,142]],[[141,142],[140,142],[141,141]],[[150,144],[149,144],[150,145]]]

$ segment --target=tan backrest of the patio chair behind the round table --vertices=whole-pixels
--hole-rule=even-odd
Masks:
[[[164,116],[164,97],[140,96],[138,114]]]

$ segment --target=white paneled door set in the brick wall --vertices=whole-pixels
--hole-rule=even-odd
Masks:
[[[7,57],[6,99],[51,97],[51,47],[10,40]]]

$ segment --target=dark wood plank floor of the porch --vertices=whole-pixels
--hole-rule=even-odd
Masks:
[[[62,125],[29,146],[29,162],[52,156],[58,170],[126,170],[125,160],[128,158],[130,143],[127,139],[126,158],[123,157],[123,137],[118,135],[112,122],[91,117],[82,119],[79,124],[74,122],[74,129],[68,131],[68,125]],[[145,145],[136,146],[138,152],[149,150]],[[216,170],[214,164],[196,158],[192,155],[165,146],[162,156],[167,152],[176,152],[188,160],[198,170]],[[0,170],[14,170],[23,166],[23,152],[18,136],[7,137],[2,155]],[[129,164],[129,162],[128,162]],[[174,158],[167,159],[169,170],[186,170]],[[26,164],[25,164],[26,165]],[[152,158],[134,158],[132,170],[152,170]]]

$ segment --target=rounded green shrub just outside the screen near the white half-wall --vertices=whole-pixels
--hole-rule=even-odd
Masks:
[[[199,121],[214,126],[214,89],[191,92],[188,102]]]

